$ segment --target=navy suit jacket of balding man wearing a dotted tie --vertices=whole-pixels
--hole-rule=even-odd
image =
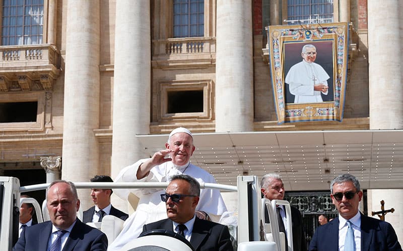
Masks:
[[[26,227],[21,232],[21,236],[13,250],[46,250],[51,231],[51,221]],[[108,239],[103,232],[77,219],[63,247],[63,251],[105,251],[107,247]]]

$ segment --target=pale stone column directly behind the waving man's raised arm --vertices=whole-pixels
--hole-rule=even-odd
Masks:
[[[150,133],[151,31],[149,0],[117,0],[111,176],[149,157],[136,134]],[[113,198],[112,198],[113,199]],[[113,205],[120,203],[113,199]]]

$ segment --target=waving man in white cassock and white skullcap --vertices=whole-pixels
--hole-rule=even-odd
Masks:
[[[185,128],[173,130],[165,147],[165,150],[156,152],[150,159],[139,160],[122,169],[114,179],[115,182],[170,182],[170,177],[175,174],[187,174],[199,182],[216,183],[210,173],[189,162],[195,149],[189,130]],[[108,250],[119,250],[127,242],[137,238],[143,231],[144,224],[167,218],[165,202],[161,201],[160,196],[165,193],[164,190],[116,189],[115,193],[122,199],[127,199],[130,192],[140,198],[136,212],[124,222],[123,230],[110,243]],[[226,211],[227,208],[219,190],[200,190],[200,201],[196,207],[198,217],[206,216],[206,213],[209,217],[217,218]]]

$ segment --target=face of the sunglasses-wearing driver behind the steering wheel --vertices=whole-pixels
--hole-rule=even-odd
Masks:
[[[181,195],[194,195],[190,194],[190,184],[185,180],[173,180],[169,183],[166,193],[181,194]],[[199,197],[181,197],[178,202],[172,201],[168,198],[165,202],[167,208],[168,218],[171,220],[183,224],[189,221],[194,216]]]

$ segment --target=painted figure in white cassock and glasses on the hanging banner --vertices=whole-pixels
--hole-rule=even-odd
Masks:
[[[305,45],[302,48],[302,62],[293,65],[287,73],[285,82],[289,85],[291,94],[295,95],[294,103],[323,102],[320,93],[327,95],[328,85],[326,71],[314,63],[316,47]]]

